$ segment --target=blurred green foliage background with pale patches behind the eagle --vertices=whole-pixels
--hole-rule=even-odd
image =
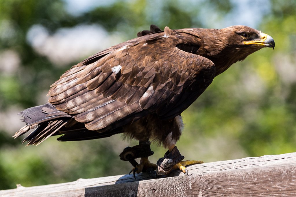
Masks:
[[[248,25],[271,35],[262,49],[216,77],[183,114],[185,159],[213,162],[296,151],[296,1],[1,0],[0,189],[126,174],[119,153],[136,141],[58,142],[25,147],[12,135],[19,111],[47,101],[70,66],[136,37],[150,24],[171,29]],[[166,150],[152,145],[156,162]]]

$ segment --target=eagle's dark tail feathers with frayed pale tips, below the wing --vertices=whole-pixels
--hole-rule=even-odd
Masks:
[[[62,135],[59,141],[80,141],[89,139],[99,139],[121,133],[122,126],[132,118],[113,124],[98,131],[90,131],[85,128],[84,123],[77,122],[72,115],[57,110],[52,104],[45,104],[28,108],[19,113],[23,117],[22,121],[26,126],[21,128],[13,136],[17,138],[31,129],[34,129],[22,142],[28,145],[38,145],[50,136]]]

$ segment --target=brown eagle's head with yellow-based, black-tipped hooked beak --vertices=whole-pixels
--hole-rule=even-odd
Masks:
[[[264,47],[274,49],[274,39],[251,27],[236,25],[215,31],[217,48],[211,51],[210,59],[214,61],[217,75],[225,71],[237,61]],[[222,58],[223,57],[223,58]],[[218,61],[217,61],[218,60]],[[215,62],[216,61],[216,62]]]

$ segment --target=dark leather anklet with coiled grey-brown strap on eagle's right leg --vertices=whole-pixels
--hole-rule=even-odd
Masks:
[[[174,166],[184,159],[175,146],[170,152],[167,151],[163,158],[157,162],[157,175],[167,175],[174,169]]]

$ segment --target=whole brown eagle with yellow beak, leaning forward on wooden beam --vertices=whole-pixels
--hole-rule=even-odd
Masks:
[[[46,104],[19,113],[26,125],[14,138],[33,130],[23,142],[38,145],[50,136],[59,141],[99,139],[123,133],[139,145],[126,147],[120,159],[133,174],[162,177],[202,161],[183,161],[176,142],[184,127],[181,113],[214,77],[264,47],[271,36],[247,26],[186,28],[138,32],[72,66],[51,85]],[[168,149],[157,164],[149,162],[151,142]],[[136,162],[136,158],[141,158]]]

